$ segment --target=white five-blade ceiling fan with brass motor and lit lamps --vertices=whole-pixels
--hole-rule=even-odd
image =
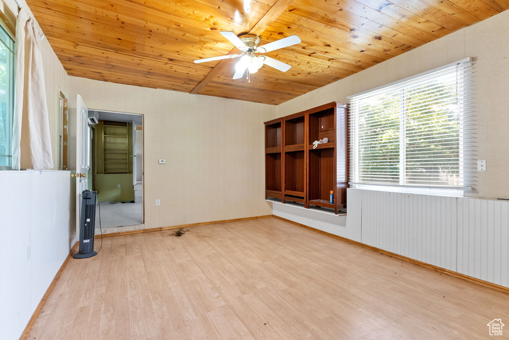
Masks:
[[[233,76],[234,79],[242,78],[246,70],[247,79],[249,79],[249,74],[257,72],[264,64],[282,72],[288,71],[291,67],[290,65],[272,59],[266,55],[257,56],[256,53],[271,52],[276,49],[292,46],[301,42],[299,37],[294,35],[260,46],[261,43],[260,37],[254,34],[244,34],[241,35],[240,37],[237,37],[237,35],[235,35],[235,33],[233,32],[219,32],[219,33],[221,33],[224,36],[224,38],[230,40],[230,42],[234,44],[238,49],[240,49],[242,53],[214,56],[212,58],[195,60],[194,62],[196,64],[205,63],[214,60],[233,59],[238,58],[240,56],[241,58],[239,62],[237,63],[237,65],[235,65],[236,72],[235,75]]]

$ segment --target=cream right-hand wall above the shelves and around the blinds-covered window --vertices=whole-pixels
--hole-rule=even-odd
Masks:
[[[487,161],[476,173],[470,196],[509,199],[509,11],[497,14],[388,61],[277,106],[283,117],[370,90],[468,56],[474,58],[475,159]],[[472,164],[475,167],[475,164]]]

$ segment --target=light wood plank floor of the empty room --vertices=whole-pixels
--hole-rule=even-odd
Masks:
[[[275,218],[173,233],[71,259],[28,338],[477,339],[509,325],[508,294]]]

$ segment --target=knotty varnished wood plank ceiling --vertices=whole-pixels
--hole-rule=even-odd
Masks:
[[[27,0],[69,75],[279,104],[509,8],[509,0]],[[292,68],[233,80],[219,34],[255,33]]]

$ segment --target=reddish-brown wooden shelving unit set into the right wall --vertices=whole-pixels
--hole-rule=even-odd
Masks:
[[[332,102],[266,122],[265,132],[267,199],[297,202],[305,208],[333,209],[336,214],[346,208],[346,103]],[[328,143],[313,149],[313,142],[325,137]],[[330,203],[331,191],[333,203]]]

